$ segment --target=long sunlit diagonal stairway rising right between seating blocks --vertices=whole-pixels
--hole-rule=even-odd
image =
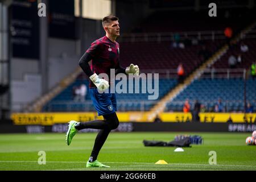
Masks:
[[[241,40],[250,30],[252,30],[256,25],[256,22],[250,24],[250,26],[246,27],[244,30],[240,32],[235,38],[232,39],[232,42],[237,43]],[[151,108],[147,115],[143,115],[143,117],[147,118],[139,118],[139,120],[153,121],[156,115],[162,113],[167,105],[167,102],[171,102],[180,92],[182,92],[189,84],[192,83],[193,80],[199,78],[204,70],[207,69],[210,65],[213,65],[220,57],[225,55],[228,51],[228,45],[225,44],[222,48],[220,48],[216,53],[213,54],[205,63],[203,63],[199,68],[197,68],[194,72],[192,72],[185,80],[183,84],[178,84],[174,89],[170,90],[169,93],[166,94],[155,106]]]

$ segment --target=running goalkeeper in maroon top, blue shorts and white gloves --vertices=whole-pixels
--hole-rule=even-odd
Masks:
[[[69,145],[77,131],[82,129],[100,129],[86,167],[109,167],[98,162],[97,156],[106,138],[108,138],[110,131],[116,129],[119,125],[118,117],[115,113],[117,111],[115,94],[103,92],[104,90],[110,90],[109,81],[99,78],[98,75],[100,73],[106,73],[109,76],[110,69],[115,69],[115,74],[126,73],[139,75],[137,65],[131,64],[130,67],[122,68],[119,63],[119,44],[115,41],[119,36],[120,30],[118,18],[115,16],[106,16],[102,20],[102,26],[106,32],[106,36],[91,44],[79,60],[79,65],[90,78],[90,97],[98,115],[102,115],[104,120],[87,122],[70,121],[66,135],[66,142]],[[92,62],[89,65],[89,61],[91,60]]]

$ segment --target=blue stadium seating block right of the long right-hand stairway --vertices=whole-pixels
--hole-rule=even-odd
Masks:
[[[201,78],[194,81],[172,102],[167,104],[168,111],[182,111],[184,101],[188,99],[193,106],[195,100],[206,107],[206,111],[214,111],[218,99],[224,104],[223,111],[243,111],[244,105],[243,78]],[[246,81],[246,100],[252,105],[256,104],[256,81]]]

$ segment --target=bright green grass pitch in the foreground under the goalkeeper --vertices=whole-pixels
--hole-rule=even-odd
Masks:
[[[144,147],[143,139],[169,142],[176,134],[199,134],[203,145],[184,152],[176,147]],[[1,134],[0,170],[256,170],[256,146],[246,146],[251,133],[110,133],[98,160],[111,168],[85,168],[96,133],[78,133],[70,146],[65,134]],[[39,165],[39,151],[46,164]],[[216,151],[217,165],[210,165]],[[168,164],[155,164],[165,160]]]

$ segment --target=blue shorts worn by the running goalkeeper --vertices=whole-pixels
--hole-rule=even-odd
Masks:
[[[98,115],[111,114],[117,111],[117,98],[114,93],[98,93],[97,88],[90,88],[90,98]]]

